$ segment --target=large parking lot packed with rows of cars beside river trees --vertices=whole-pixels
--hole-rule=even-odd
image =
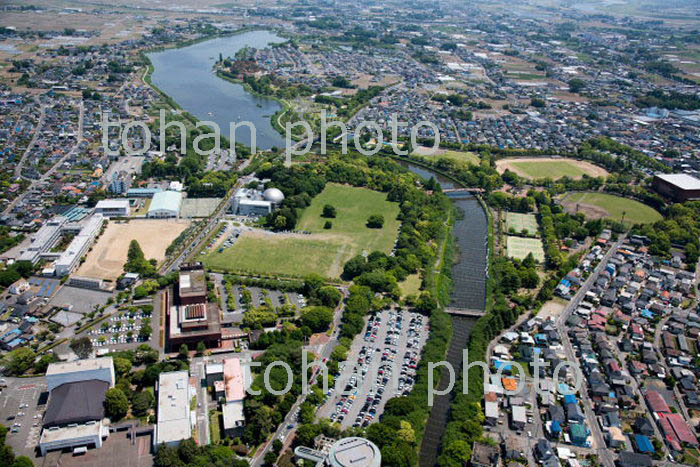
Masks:
[[[378,419],[387,400],[408,394],[428,337],[427,323],[426,317],[399,309],[370,316],[319,416],[343,428],[367,426]]]

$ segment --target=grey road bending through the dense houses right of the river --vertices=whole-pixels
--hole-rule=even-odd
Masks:
[[[583,301],[586,292],[591,290],[591,286],[595,283],[596,280],[598,280],[598,276],[600,275],[601,271],[608,263],[608,260],[610,260],[612,255],[620,247],[625,237],[626,236],[622,236],[614,245],[612,245],[610,250],[608,250],[608,252],[605,253],[605,256],[600,261],[598,266],[596,266],[596,268],[593,270],[588,279],[586,279],[586,281],[581,285],[578,292],[576,292],[576,295],[569,301],[566,308],[564,308],[564,310],[559,314],[559,317],[556,320],[556,328],[559,332],[559,335],[561,336],[561,341],[564,347],[564,352],[566,353],[566,358],[568,361],[576,365],[576,367],[579,370],[579,374],[581,375],[583,373],[581,372],[581,367],[578,363],[578,359],[576,358],[576,353],[574,352],[574,349],[571,345],[571,341],[569,340],[569,335],[566,332],[567,329],[565,323],[566,320],[569,319],[569,316],[571,316],[571,314],[576,310],[576,308],[578,308],[579,303]],[[585,381],[583,381],[581,384],[581,402],[583,404],[584,413],[586,415],[588,428],[591,430],[591,436],[593,437],[593,450],[598,454],[598,458],[600,459],[603,465],[605,465],[606,467],[614,467],[614,456],[612,452],[606,448],[603,433],[600,429],[600,425],[598,424],[595,413],[593,412],[593,402],[588,397],[588,390]]]

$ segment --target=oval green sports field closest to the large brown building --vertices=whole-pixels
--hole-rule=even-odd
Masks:
[[[648,224],[661,220],[654,208],[639,201],[609,195],[607,193],[572,193],[563,198],[562,205],[568,212],[582,212],[592,219],[608,218],[625,224]]]

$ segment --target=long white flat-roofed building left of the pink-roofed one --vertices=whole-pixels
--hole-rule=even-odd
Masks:
[[[158,412],[153,447],[161,444],[177,446],[180,441],[192,437],[190,400],[194,389],[190,386],[187,371],[169,371],[158,376]]]

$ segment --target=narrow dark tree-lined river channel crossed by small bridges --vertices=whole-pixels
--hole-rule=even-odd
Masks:
[[[459,188],[454,182],[424,167],[405,162],[402,162],[401,165],[423,178],[435,177],[443,189]],[[450,196],[450,198],[463,214],[455,221],[452,229],[458,257],[457,262],[452,267],[454,286],[450,294],[450,306],[483,310],[486,303],[488,219],[481,204],[474,196],[459,194]],[[459,375],[461,371],[462,350],[467,347],[469,334],[474,323],[473,318],[452,317],[452,340],[447,350],[446,360],[455,369],[455,375]],[[439,389],[444,390],[447,387],[448,379],[447,370],[444,370],[441,373]],[[457,390],[461,390],[460,382],[456,382],[452,392]],[[433,467],[437,463],[451,402],[452,394],[435,397],[421,444],[419,457],[421,467]]]

